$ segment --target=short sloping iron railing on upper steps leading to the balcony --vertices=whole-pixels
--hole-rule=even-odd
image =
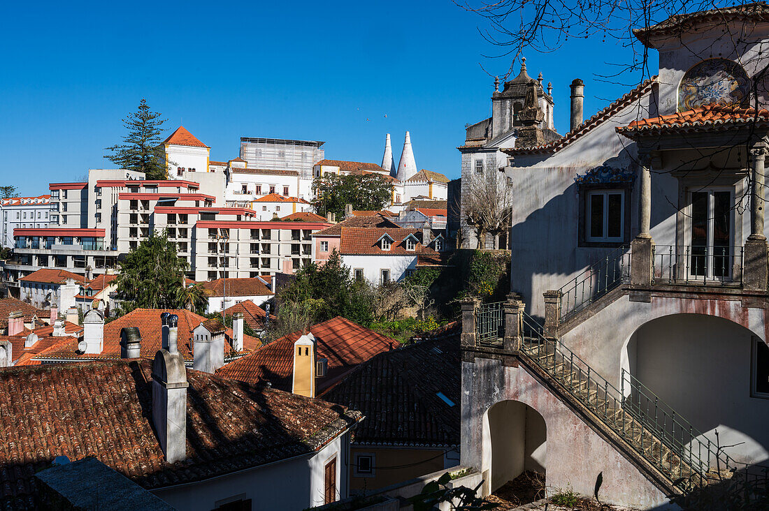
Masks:
[[[624,245],[606,254],[569,280],[561,292],[560,322],[568,320],[592,302],[630,280],[630,251]]]

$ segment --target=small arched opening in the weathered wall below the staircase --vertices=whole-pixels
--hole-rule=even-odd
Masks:
[[[524,470],[544,474],[547,440],[544,418],[531,406],[513,400],[491,406],[484,417],[488,493]]]

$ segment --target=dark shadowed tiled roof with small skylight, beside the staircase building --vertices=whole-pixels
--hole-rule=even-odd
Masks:
[[[438,393],[454,403],[450,406]],[[459,336],[422,340],[361,363],[323,399],[360,410],[355,443],[457,446],[461,426]]]

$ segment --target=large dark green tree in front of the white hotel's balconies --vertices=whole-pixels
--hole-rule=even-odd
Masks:
[[[177,292],[187,268],[187,261],[176,254],[176,244],[168,241],[168,234],[153,232],[120,263],[117,293],[122,311],[185,307]]]

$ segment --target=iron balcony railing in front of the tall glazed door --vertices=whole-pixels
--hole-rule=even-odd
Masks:
[[[742,284],[744,247],[656,245],[654,284]]]

